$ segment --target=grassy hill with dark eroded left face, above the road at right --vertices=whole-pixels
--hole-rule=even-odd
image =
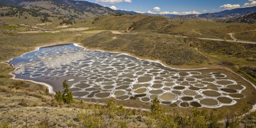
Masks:
[[[227,38],[227,33],[240,32],[256,29],[256,25],[246,24],[223,24],[207,21],[185,21],[167,20],[163,17],[148,17],[135,22],[131,29],[135,31],[170,33],[175,35],[185,35],[192,37]]]

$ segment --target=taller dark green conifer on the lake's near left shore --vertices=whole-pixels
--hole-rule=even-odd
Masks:
[[[64,93],[62,94],[64,103],[71,103],[74,101],[72,92],[69,89],[69,85],[67,84],[67,80],[63,82]]]

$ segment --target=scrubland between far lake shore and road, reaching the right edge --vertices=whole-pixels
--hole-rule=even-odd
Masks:
[[[141,58],[161,60],[178,68],[219,65],[231,68],[238,74],[245,74],[245,77],[252,73],[242,67],[246,65],[256,69],[253,66],[256,44],[180,38],[159,33],[115,35],[111,32],[101,32],[81,43],[90,49],[130,53]],[[255,75],[249,79],[256,81]]]

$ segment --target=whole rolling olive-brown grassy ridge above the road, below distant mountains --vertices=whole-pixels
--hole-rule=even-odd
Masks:
[[[110,20],[112,22],[108,22]],[[98,20],[94,21],[94,24],[91,26],[109,30],[125,31],[128,29],[129,31],[136,33],[157,32],[190,37],[219,39],[231,39],[228,33],[237,33],[256,29],[255,24],[225,24],[209,21],[169,20],[162,16],[145,15],[124,15],[116,17],[102,16]]]

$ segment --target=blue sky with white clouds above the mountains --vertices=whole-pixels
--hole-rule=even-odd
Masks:
[[[155,14],[203,14],[256,6],[256,0],[87,0],[112,9]]]

